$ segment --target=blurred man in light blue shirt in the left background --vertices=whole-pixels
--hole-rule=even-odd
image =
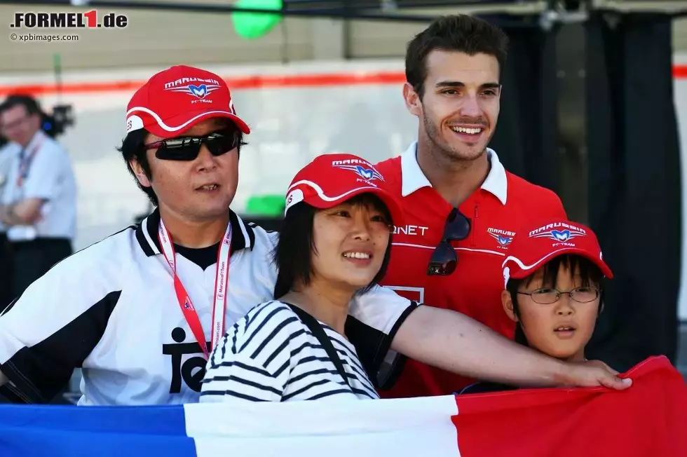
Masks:
[[[9,170],[0,196],[0,223],[12,252],[13,298],[72,254],[76,182],[67,152],[43,132],[33,97],[0,104],[0,135],[8,139]]]

